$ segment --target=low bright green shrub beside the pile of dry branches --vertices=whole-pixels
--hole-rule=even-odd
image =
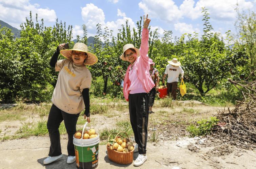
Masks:
[[[191,136],[205,136],[208,135],[214,126],[217,125],[219,120],[216,117],[211,117],[210,120],[202,119],[197,122],[197,125],[190,125],[186,128],[190,132]]]

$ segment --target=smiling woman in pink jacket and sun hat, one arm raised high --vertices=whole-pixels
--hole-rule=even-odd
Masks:
[[[130,121],[134,132],[135,145],[134,152],[139,151],[138,158],[134,166],[142,165],[146,160],[147,143],[147,122],[149,113],[148,92],[155,86],[149,70],[149,30],[147,29],[150,19],[143,16],[143,30],[140,49],[132,44],[123,46],[123,53],[120,58],[131,64],[126,70],[123,85],[124,98],[129,101]]]

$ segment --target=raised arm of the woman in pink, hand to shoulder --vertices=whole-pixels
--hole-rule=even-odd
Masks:
[[[147,15],[148,16],[148,15]],[[147,52],[149,51],[149,23],[150,19],[146,16],[143,16],[143,29],[142,29],[142,38],[141,38],[141,45],[140,45],[140,56],[144,63],[148,63],[149,56]]]

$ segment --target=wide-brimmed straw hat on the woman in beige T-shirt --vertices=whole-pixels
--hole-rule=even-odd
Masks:
[[[87,53],[88,56],[85,59],[84,65],[94,65],[98,62],[97,56],[88,52],[87,45],[79,42],[74,45],[73,49],[60,50],[60,53],[66,58],[72,58],[73,50]]]

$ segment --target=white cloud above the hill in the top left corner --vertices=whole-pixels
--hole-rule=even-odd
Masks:
[[[0,0],[0,20],[19,28],[26,17],[29,18],[29,12],[32,11],[33,18],[38,14],[38,20],[44,19],[46,22],[54,22],[57,19],[53,9],[39,8],[39,4],[31,4],[29,0]]]

